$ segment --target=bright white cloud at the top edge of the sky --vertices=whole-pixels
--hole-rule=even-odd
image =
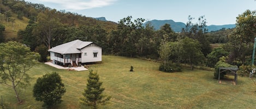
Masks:
[[[100,8],[111,5],[117,0],[39,0],[41,2],[56,3],[64,9],[83,10]]]

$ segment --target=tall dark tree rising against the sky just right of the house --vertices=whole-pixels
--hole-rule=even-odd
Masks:
[[[132,21],[132,16],[128,16],[118,21],[117,30],[111,32],[111,48],[118,55],[133,57],[139,51],[136,45],[141,38],[145,20],[137,18]]]

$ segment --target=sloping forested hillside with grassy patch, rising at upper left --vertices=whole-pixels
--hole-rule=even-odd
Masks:
[[[64,10],[57,11],[43,4],[16,1],[16,0],[1,0],[0,1],[0,20],[4,25],[5,40],[17,40],[17,33],[19,30],[24,30],[29,21],[37,23],[38,15],[46,11],[52,11],[52,16],[57,18],[59,23],[67,26],[80,27],[81,25],[88,25],[90,27],[101,26],[106,31],[116,29],[116,23],[103,22],[95,20],[91,17],[79,15],[74,12],[66,12]]]

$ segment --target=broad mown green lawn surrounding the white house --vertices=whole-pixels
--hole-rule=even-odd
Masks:
[[[129,72],[130,66],[134,72]],[[91,65],[105,87],[104,94],[112,96],[103,108],[255,108],[256,86],[247,77],[238,78],[237,85],[230,81],[218,84],[213,72],[183,69],[181,73],[158,71],[158,63],[121,56],[103,56],[103,62]],[[79,98],[86,87],[87,71],[68,71],[38,63],[29,72],[32,85],[23,91],[23,104],[17,105],[14,91],[1,86],[5,104],[11,108],[42,108],[35,101],[32,89],[35,80],[43,74],[57,72],[61,75],[67,92],[63,102],[54,108],[85,108]],[[234,76],[230,76],[234,78]]]

